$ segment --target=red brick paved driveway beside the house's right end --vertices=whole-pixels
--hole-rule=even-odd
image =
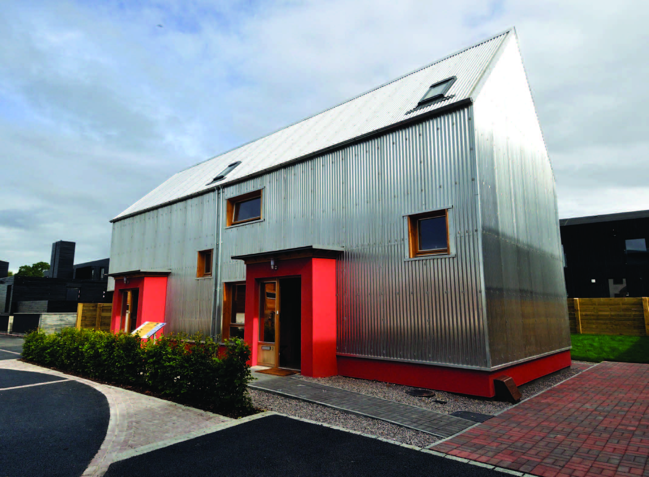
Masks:
[[[649,364],[587,369],[432,449],[544,477],[649,477]]]

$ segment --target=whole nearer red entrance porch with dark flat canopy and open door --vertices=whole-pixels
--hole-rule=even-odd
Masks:
[[[243,334],[252,366],[337,374],[336,257],[343,250],[311,245],[232,257],[246,264]]]

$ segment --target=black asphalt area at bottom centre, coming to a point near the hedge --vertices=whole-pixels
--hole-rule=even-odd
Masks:
[[[271,415],[112,463],[105,477],[502,477],[500,472]]]

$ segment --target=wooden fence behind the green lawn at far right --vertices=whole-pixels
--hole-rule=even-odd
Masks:
[[[649,335],[649,299],[569,298],[570,332]]]

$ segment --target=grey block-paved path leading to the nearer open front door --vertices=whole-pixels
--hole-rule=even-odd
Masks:
[[[314,402],[364,417],[373,417],[437,437],[450,437],[476,424],[468,419],[294,377],[275,377],[262,373],[253,373],[253,375],[258,379],[249,384],[251,389]]]

